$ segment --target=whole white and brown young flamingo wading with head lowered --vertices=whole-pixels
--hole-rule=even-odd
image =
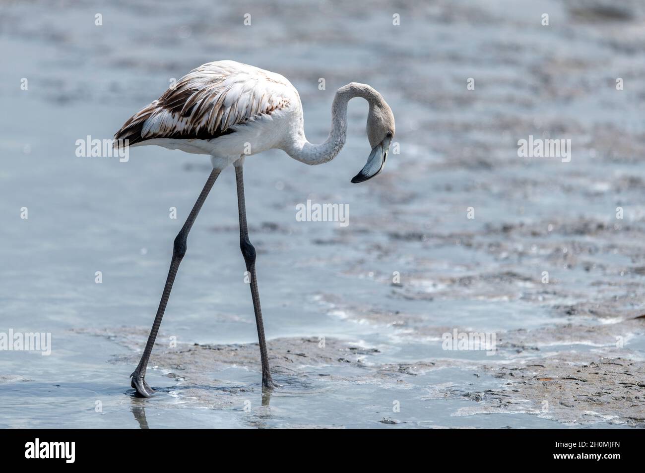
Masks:
[[[116,147],[158,145],[170,150],[209,155],[213,165],[197,202],[174,240],[168,278],[141,361],[130,375],[137,396],[154,390],[145,375],[170,291],[186,254],[186,239],[215,180],[228,165],[235,167],[240,248],[250,275],[251,296],[262,362],[262,387],[273,382],[264,338],[260,297],[255,275],[255,248],[248,237],[244,204],[243,164],[248,155],[270,149],[284,150],[304,164],[323,164],[336,157],[345,143],[347,104],[365,99],[370,109],[367,135],[372,152],[352,182],[364,182],[381,173],[394,136],[394,115],[381,94],[366,84],[352,82],[337,90],[332,104],[332,130],[322,144],[304,136],[303,106],[298,91],[282,75],[235,61],[215,61],[184,75],[158,100],[138,111],[114,135]]]

